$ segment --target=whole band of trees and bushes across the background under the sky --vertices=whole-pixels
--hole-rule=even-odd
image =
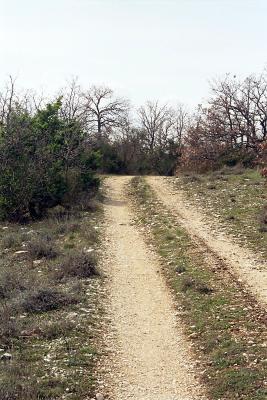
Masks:
[[[97,172],[175,174],[222,165],[261,165],[267,176],[267,77],[212,82],[205,106],[189,113],[130,102],[104,86],[71,81],[50,99],[0,91],[0,218],[39,218],[93,195]]]

